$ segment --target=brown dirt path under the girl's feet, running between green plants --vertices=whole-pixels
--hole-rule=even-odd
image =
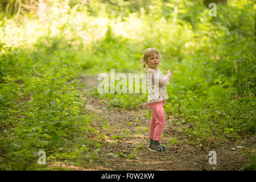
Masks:
[[[97,80],[82,77],[80,84],[84,82],[89,82],[88,86],[81,88],[86,91],[93,88]],[[188,126],[166,115],[166,127],[160,142],[168,151],[152,152],[148,150],[150,119],[146,118],[149,110],[146,104],[141,105],[141,110],[129,111],[110,108],[106,100],[89,94],[82,99],[87,102],[86,112],[100,118],[95,119],[94,125],[105,135],[101,154],[107,170],[239,170],[245,164],[242,152],[256,141],[250,138],[193,145],[182,132],[183,127]],[[175,124],[172,121],[176,121]],[[209,164],[209,151],[216,151],[216,165]],[[102,170],[102,167],[96,169]]]

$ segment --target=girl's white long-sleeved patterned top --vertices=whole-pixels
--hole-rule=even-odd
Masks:
[[[169,98],[166,92],[166,85],[169,84],[171,76],[163,75],[159,68],[157,71],[147,68],[146,76],[148,90],[147,103],[161,102]]]

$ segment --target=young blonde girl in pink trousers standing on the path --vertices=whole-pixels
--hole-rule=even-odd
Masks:
[[[166,124],[164,118],[164,104],[166,99],[169,98],[166,92],[166,85],[172,77],[172,72],[167,71],[167,75],[163,75],[158,68],[160,53],[155,48],[147,48],[143,52],[141,58],[142,66],[146,71],[147,77],[147,90],[148,90],[148,106],[151,109],[151,121],[148,132],[150,138],[149,149],[151,151],[166,151],[166,147],[160,146],[160,137],[163,133]],[[148,68],[146,68],[148,65]]]

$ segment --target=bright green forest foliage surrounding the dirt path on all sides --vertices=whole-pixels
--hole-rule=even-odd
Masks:
[[[165,111],[184,123],[188,142],[255,135],[253,5],[230,1],[209,16],[203,1],[48,1],[43,23],[36,13],[15,19],[1,9],[0,168],[46,169],[37,164],[39,150],[51,162],[97,160],[101,146],[88,137],[104,135],[90,126],[76,78],[112,68],[144,73],[138,60],[147,47],[159,49],[174,72]],[[147,93],[89,94],[129,110],[147,101]]]

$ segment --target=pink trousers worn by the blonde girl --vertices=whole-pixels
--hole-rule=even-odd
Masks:
[[[160,140],[163,133],[164,126],[166,125],[166,119],[164,118],[164,104],[166,100],[155,103],[148,103],[151,109],[151,121],[148,132],[148,138],[153,140]]]

